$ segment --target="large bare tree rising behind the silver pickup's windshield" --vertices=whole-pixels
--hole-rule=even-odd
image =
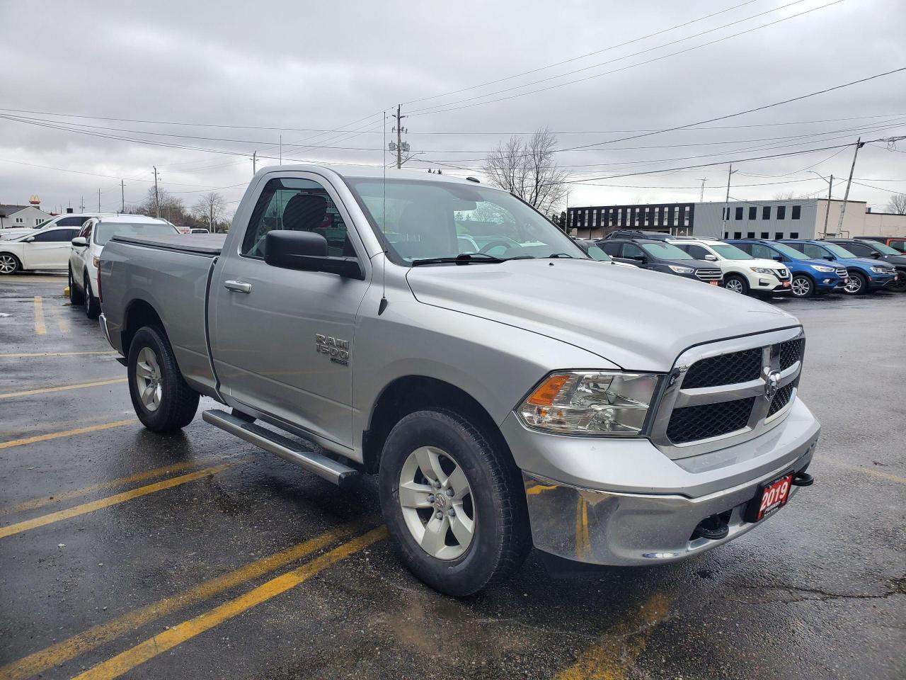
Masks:
[[[557,167],[556,144],[547,128],[539,128],[527,141],[514,135],[487,154],[485,173],[492,184],[549,215],[566,195],[567,172]]]

